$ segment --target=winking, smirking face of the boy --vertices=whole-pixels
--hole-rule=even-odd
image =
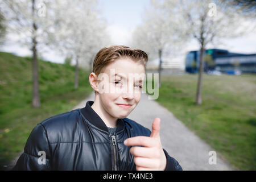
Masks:
[[[100,75],[98,97],[102,109],[113,118],[126,118],[141,100],[144,66],[123,57],[106,66]]]

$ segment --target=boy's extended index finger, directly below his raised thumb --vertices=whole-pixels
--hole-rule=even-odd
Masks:
[[[154,147],[158,144],[158,142],[154,138],[145,137],[145,136],[127,138],[123,143],[126,146],[144,146],[144,147]]]

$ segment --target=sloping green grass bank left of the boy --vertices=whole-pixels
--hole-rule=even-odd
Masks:
[[[93,91],[88,71],[80,69],[75,89],[75,67],[39,60],[41,107],[34,108],[31,61],[0,52],[0,168],[23,150],[37,123],[71,110]]]

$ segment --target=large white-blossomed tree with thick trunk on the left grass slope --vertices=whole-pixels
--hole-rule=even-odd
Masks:
[[[9,0],[1,2],[8,30],[19,35],[19,42],[31,47],[32,51],[32,106],[40,107],[38,82],[38,49],[44,43],[49,26],[52,25],[45,13],[46,4],[36,0]]]

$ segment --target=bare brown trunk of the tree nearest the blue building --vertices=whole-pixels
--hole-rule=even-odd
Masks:
[[[200,68],[199,68],[199,75],[197,81],[197,90],[196,90],[196,105],[202,104],[201,98],[201,85],[202,85],[202,77],[204,73],[204,44],[201,44],[200,48]]]

